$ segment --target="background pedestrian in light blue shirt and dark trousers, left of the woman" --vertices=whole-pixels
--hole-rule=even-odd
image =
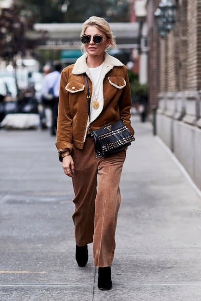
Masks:
[[[53,63],[53,71],[45,75],[41,91],[42,103],[51,109],[51,135],[56,135],[61,69],[62,65],[59,62]],[[45,71],[47,72],[46,69]],[[53,97],[47,100],[45,95],[50,89],[53,91]]]

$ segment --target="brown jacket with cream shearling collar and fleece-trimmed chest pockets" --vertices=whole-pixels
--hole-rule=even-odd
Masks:
[[[88,77],[90,95],[93,93],[86,58],[87,53],[82,55],[76,63],[64,68],[61,74],[56,138],[59,153],[67,148],[72,152],[73,146],[79,149],[84,147],[89,126],[84,74]],[[92,130],[122,119],[134,134],[130,123],[132,101],[126,66],[105,52],[102,73],[103,109],[91,123]]]

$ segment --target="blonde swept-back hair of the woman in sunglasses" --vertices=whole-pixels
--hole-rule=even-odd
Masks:
[[[101,32],[103,32],[106,35],[107,39],[110,40],[110,44],[113,47],[117,47],[116,41],[115,41],[115,36],[113,35],[113,32],[110,29],[109,23],[104,18],[97,17],[97,16],[91,16],[90,18],[88,18],[83,23],[83,30],[82,30],[80,36],[82,36],[84,34],[85,30],[89,26],[95,26],[96,28],[98,28]]]

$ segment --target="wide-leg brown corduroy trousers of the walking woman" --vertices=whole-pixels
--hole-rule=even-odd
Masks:
[[[93,242],[95,267],[112,265],[115,231],[121,195],[119,182],[126,151],[95,158],[92,138],[86,138],[84,150],[74,147],[72,179],[75,211],[75,240],[78,246]]]

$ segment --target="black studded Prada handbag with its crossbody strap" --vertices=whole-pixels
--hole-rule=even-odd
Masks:
[[[89,130],[94,140],[95,156],[101,158],[109,156],[124,150],[126,147],[131,145],[134,141],[134,136],[131,134],[128,127],[126,127],[122,120],[115,123],[105,125],[94,131],[91,130],[90,122],[90,93],[85,74],[86,89],[87,89],[87,104],[88,104],[88,115],[89,115]]]

